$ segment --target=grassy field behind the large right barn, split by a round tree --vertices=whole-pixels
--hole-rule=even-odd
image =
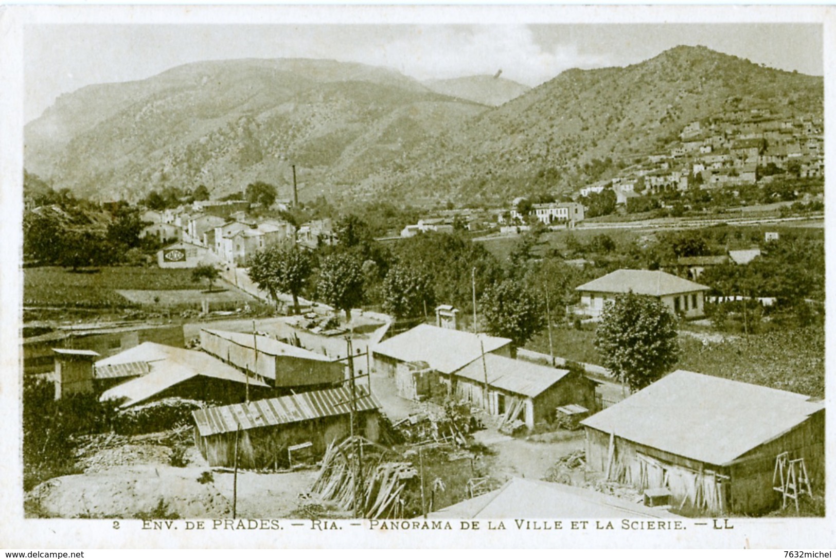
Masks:
[[[584,363],[601,364],[592,330],[555,328],[554,353]],[[543,331],[526,348],[548,353]],[[711,374],[744,383],[761,384],[813,397],[824,396],[824,328],[809,327],[702,343],[680,337],[681,356],[676,368]]]

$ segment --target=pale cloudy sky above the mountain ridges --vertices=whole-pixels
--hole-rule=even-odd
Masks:
[[[24,118],[85,85],[145,79],[229,58],[332,58],[416,79],[496,74],[535,86],[570,68],[625,66],[679,44],[823,74],[810,23],[670,24],[32,24],[23,34]]]

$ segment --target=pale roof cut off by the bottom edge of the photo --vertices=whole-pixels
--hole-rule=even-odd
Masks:
[[[668,511],[638,505],[598,491],[512,478],[485,495],[461,501],[428,518],[678,518]]]

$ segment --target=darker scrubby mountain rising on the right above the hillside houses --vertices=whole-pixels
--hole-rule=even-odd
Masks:
[[[663,150],[693,120],[755,106],[821,116],[823,79],[684,46],[624,68],[570,69],[442,133],[357,190],[469,202],[576,191]]]

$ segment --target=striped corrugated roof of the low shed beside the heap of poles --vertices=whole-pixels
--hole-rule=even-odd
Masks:
[[[357,411],[380,409],[380,403],[374,394],[369,394],[367,389],[361,386],[356,390]],[[344,415],[350,412],[350,402],[351,390],[344,386],[244,404],[196,409],[192,415],[198,432],[202,437],[206,437],[211,434],[230,433],[235,431],[238,425],[242,430],[247,430]]]

